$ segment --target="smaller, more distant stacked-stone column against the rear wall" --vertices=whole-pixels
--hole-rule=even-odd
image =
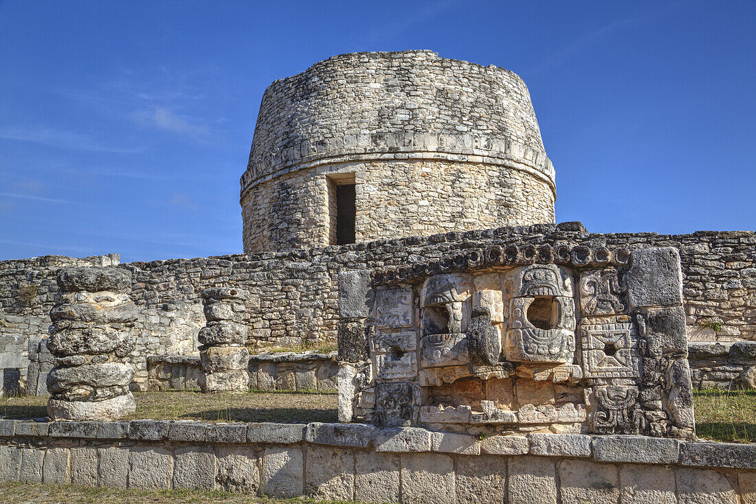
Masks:
[[[200,329],[203,392],[249,391],[249,351],[244,317],[249,292],[231,287],[202,291],[207,325]]]

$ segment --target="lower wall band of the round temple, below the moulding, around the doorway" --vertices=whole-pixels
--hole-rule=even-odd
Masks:
[[[331,243],[335,228],[328,178],[345,173],[353,174],[356,182],[358,243],[554,221],[549,183],[505,166],[417,159],[347,162],[300,169],[245,193],[246,249]]]

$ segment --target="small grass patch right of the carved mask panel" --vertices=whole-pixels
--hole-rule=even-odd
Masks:
[[[693,404],[699,438],[756,442],[756,390],[694,391]]]

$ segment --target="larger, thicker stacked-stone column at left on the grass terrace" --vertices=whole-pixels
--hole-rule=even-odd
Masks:
[[[67,267],[57,276],[59,298],[50,312],[47,347],[48,416],[57,420],[115,420],[133,413],[132,330],[138,317],[129,297],[130,271]]]

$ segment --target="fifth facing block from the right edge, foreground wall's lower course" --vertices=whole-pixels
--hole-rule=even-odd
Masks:
[[[509,502],[556,504],[556,468],[552,459],[516,456],[508,464]]]

